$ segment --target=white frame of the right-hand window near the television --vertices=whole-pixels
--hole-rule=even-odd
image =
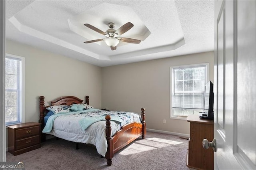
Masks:
[[[170,67],[170,119],[180,119],[180,120],[187,119],[187,117],[185,116],[176,117],[172,115],[172,92],[174,91],[173,69],[178,69],[178,68],[184,69],[184,68],[192,68],[192,67],[200,67],[200,66],[206,66],[206,80],[205,80],[205,84],[206,84],[209,81],[209,63],[198,63],[198,64],[179,65],[179,66]]]

